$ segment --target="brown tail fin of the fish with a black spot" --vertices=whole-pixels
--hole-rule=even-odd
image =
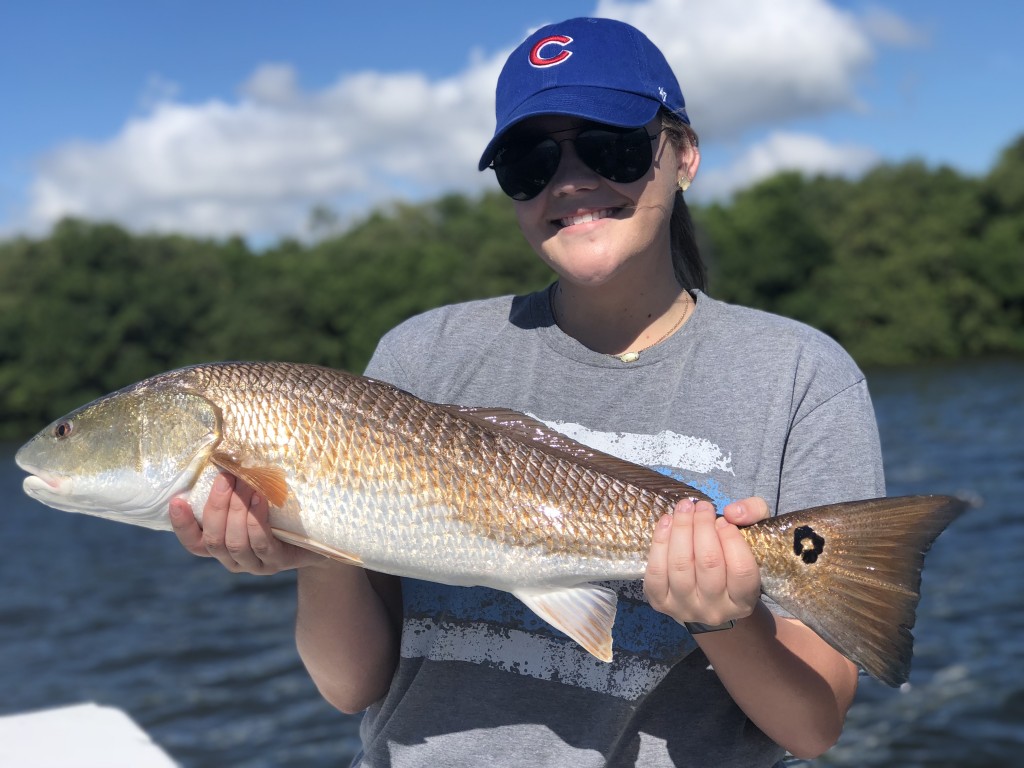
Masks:
[[[910,673],[925,554],[966,507],[944,496],[869,499],[777,515],[742,530],[771,530],[772,549],[784,550],[783,561],[774,554],[762,561],[765,594],[895,687]]]

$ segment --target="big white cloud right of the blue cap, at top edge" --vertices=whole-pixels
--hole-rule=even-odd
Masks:
[[[854,85],[873,56],[856,19],[823,0],[602,0],[598,15],[635,25],[665,52],[705,139],[859,109]]]

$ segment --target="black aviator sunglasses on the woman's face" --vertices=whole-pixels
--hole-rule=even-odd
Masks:
[[[531,200],[558,170],[562,142],[571,141],[588,168],[609,181],[628,184],[650,170],[654,158],[650,142],[657,138],[647,128],[585,128],[572,138],[550,135],[513,139],[495,154],[490,167],[498,184],[512,200]]]

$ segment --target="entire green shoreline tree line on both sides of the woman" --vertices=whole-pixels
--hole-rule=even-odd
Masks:
[[[1024,356],[1024,135],[982,177],[920,162],[782,173],[691,210],[713,296],[818,328],[863,367]],[[552,279],[499,193],[396,204],[259,252],[65,219],[0,241],[0,440],[193,362],[358,373],[406,317]]]

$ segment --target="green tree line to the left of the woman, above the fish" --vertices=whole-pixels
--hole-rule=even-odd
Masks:
[[[46,239],[0,243],[0,439],[193,362],[361,371],[380,336],[417,312],[550,280],[500,195],[398,206],[259,254],[238,239],[67,219]]]

